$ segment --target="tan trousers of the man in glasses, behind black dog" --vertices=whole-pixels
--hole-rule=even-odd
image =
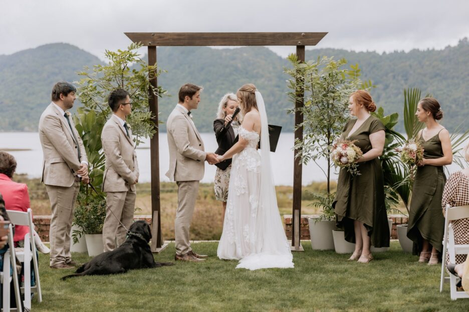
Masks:
[[[106,218],[103,225],[104,251],[111,251],[120,246],[132,225],[137,193],[132,190],[124,192],[106,192]],[[112,213],[112,212],[114,213]],[[119,220],[125,225],[122,226]]]

